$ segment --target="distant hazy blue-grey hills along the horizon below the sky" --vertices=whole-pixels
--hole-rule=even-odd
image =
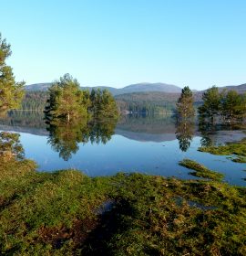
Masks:
[[[47,91],[52,83],[36,83],[26,85],[26,91]],[[117,89],[108,86],[97,86],[97,87],[81,87],[83,90],[89,90],[100,88],[102,90],[107,89],[113,95],[119,95],[123,93],[131,93],[131,92],[143,92],[143,91],[161,91],[161,92],[180,92],[181,88],[176,85],[166,84],[166,83],[137,83],[131,84],[126,87]]]

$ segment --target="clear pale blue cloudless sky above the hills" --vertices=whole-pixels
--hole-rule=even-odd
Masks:
[[[26,84],[246,82],[246,0],[0,0],[0,32]]]

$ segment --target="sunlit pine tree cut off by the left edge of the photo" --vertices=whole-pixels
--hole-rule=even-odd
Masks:
[[[0,112],[18,108],[24,96],[24,82],[15,82],[12,68],[5,60],[11,55],[10,45],[0,34]]]

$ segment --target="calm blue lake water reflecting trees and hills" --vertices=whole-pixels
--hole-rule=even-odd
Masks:
[[[47,130],[48,129],[48,130]],[[240,141],[245,131],[227,127],[200,130],[198,125],[181,123],[167,116],[123,116],[118,123],[78,123],[75,127],[47,127],[41,112],[12,112],[0,120],[0,130],[20,133],[26,158],[38,171],[67,168],[87,176],[111,176],[118,172],[149,175],[190,176],[179,161],[190,158],[225,175],[233,185],[245,186],[246,165],[227,156],[198,151],[204,144]]]

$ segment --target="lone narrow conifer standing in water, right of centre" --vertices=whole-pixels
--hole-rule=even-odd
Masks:
[[[182,89],[181,95],[177,102],[177,113],[180,120],[186,120],[195,115],[193,93],[189,86]]]

